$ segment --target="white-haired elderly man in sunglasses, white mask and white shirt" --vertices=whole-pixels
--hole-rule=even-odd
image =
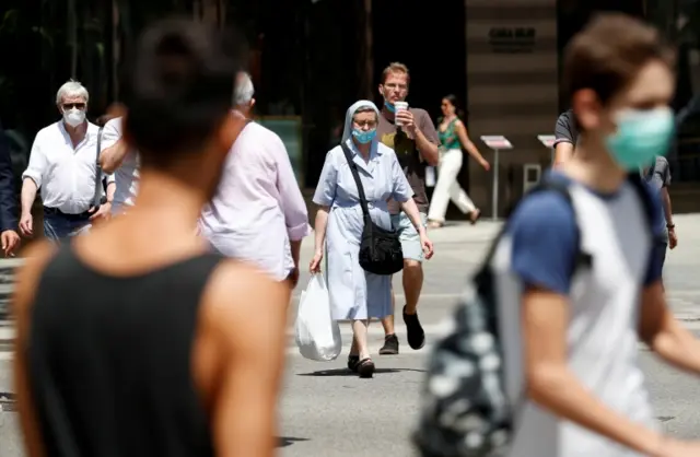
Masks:
[[[44,234],[58,242],[86,232],[93,222],[107,218],[115,191],[107,176],[106,199],[95,207],[95,196],[104,197],[104,174],[97,168],[100,128],[85,119],[88,90],[77,81],[61,85],[56,106],[62,119],[36,134],[30,163],[22,174],[20,230],[34,234],[32,206],[40,189],[44,203]]]

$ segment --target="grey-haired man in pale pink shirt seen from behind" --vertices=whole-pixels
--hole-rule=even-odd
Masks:
[[[234,116],[248,116],[254,89],[242,73]],[[296,285],[299,256],[308,235],[308,212],[282,140],[248,122],[233,144],[215,197],[199,220],[201,234],[226,257],[257,265]]]

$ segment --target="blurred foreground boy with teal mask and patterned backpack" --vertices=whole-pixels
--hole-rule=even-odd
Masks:
[[[423,456],[700,455],[661,433],[638,363],[641,339],[700,373],[653,253],[661,203],[639,174],[673,136],[673,66],[656,32],[621,14],[569,45],[576,153],[520,202],[438,344]]]

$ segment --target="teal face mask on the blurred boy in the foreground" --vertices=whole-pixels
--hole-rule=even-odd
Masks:
[[[625,169],[635,171],[666,155],[674,134],[674,115],[669,107],[630,109],[621,113],[617,132],[605,139],[608,151]]]

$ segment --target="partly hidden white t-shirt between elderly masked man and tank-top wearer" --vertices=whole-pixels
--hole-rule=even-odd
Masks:
[[[102,150],[113,147],[121,138],[121,117],[114,118],[105,124],[102,130]],[[112,203],[112,213],[118,214],[124,207],[133,206],[133,200],[139,190],[140,160],[137,151],[129,151],[121,162],[121,166],[114,172],[117,189]]]

